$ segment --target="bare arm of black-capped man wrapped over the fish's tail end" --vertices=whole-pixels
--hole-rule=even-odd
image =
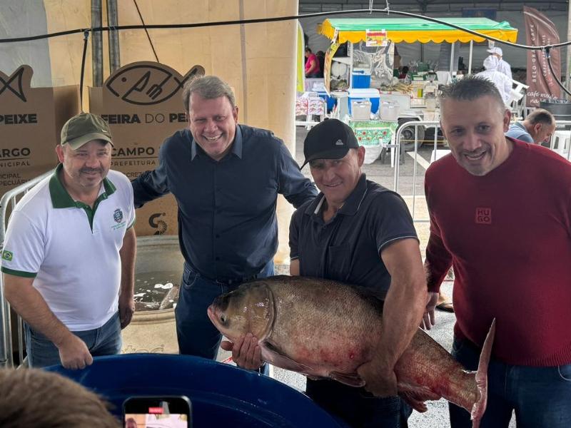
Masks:
[[[417,240],[398,240],[381,250],[380,258],[391,277],[383,305],[383,332],[373,360],[359,367],[358,373],[369,392],[388,397],[397,394],[395,364],[418,329],[427,292]]]

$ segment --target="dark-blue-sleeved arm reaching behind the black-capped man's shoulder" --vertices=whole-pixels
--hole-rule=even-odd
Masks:
[[[295,208],[299,208],[306,200],[315,198],[318,191],[308,178],[299,170],[299,165],[292,158],[288,148],[280,142],[279,193]]]

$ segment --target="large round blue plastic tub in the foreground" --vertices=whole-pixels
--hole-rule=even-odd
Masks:
[[[343,428],[301,392],[277,380],[187,355],[126,354],[98,357],[84,370],[59,372],[106,397],[121,416],[121,405],[136,395],[186,395],[193,427]]]

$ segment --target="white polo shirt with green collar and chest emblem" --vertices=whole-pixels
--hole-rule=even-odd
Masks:
[[[54,175],[34,186],[10,217],[2,272],[33,277],[49,308],[71,331],[93,330],[118,310],[126,230],[135,222],[133,188],[110,170],[91,209]]]

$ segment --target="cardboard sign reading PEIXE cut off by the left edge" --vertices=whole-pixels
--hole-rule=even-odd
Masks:
[[[30,66],[0,71],[0,196],[58,163],[64,123],[79,113],[79,87],[31,88]]]

